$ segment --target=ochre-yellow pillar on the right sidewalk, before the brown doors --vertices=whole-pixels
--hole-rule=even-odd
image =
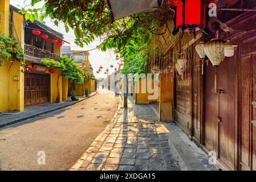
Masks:
[[[159,120],[173,121],[173,88],[174,81],[172,73],[161,74],[160,82],[160,99],[159,99]]]

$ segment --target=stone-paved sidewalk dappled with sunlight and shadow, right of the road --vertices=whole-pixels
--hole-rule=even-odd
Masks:
[[[71,170],[216,170],[176,125],[158,122],[155,108],[129,98]]]

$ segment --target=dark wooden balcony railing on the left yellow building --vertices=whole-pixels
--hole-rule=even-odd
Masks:
[[[25,44],[25,55],[30,57],[35,57],[38,59],[50,58],[50,59],[58,59],[59,55],[55,53],[51,53],[45,49],[39,49],[35,46]]]

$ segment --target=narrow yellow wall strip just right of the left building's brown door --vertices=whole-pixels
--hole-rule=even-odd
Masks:
[[[49,68],[51,69],[51,68]],[[46,73],[49,73],[48,70],[46,71]],[[51,74],[51,96],[50,96],[50,102],[54,103],[56,102],[56,98],[58,96],[58,88],[57,88],[57,82],[58,82],[58,76],[59,76],[59,72],[60,69],[57,68],[52,68],[55,69],[55,73]],[[62,102],[62,76],[59,77],[59,96],[60,96],[60,102]]]

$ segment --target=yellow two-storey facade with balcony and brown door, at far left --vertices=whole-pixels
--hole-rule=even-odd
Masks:
[[[11,18],[10,18],[11,16]],[[9,24],[9,20],[11,23]],[[45,68],[43,72],[36,71],[36,68],[42,67],[39,60],[42,57],[32,55],[35,49],[40,49],[44,57],[54,59],[60,55],[61,49],[56,44],[50,43],[50,38],[54,38],[51,31],[43,24],[27,22],[24,27],[25,18],[22,14],[18,13],[18,9],[9,5],[9,0],[0,1],[0,32],[5,36],[11,36],[18,40],[25,51],[26,66],[31,65],[32,71],[27,72],[25,67],[21,67],[18,61],[5,60],[0,66],[0,112],[6,111],[23,111],[26,106],[33,106],[44,102],[56,102],[59,96],[59,101],[67,100],[67,79],[62,78],[60,70],[56,68]],[[39,29],[44,34],[50,36],[46,40],[44,49],[41,49],[35,42],[31,45],[32,41],[27,34],[32,28]],[[53,30],[52,30],[53,31]],[[40,40],[40,36],[38,36]],[[59,34],[56,37],[58,41],[62,41]],[[42,39],[40,40],[42,43]],[[49,71],[54,69],[54,73]],[[44,90],[45,92],[42,92]],[[59,94],[58,94],[59,90]]]

